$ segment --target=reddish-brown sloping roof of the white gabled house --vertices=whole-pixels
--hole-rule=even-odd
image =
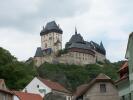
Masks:
[[[61,84],[59,84],[57,82],[42,79],[40,77],[38,79],[53,90],[60,91],[60,92],[65,92],[65,93],[70,93],[67,89],[65,89]]]

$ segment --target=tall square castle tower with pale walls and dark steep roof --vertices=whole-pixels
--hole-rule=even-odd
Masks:
[[[42,50],[50,49],[55,53],[62,49],[62,33],[63,31],[55,21],[47,23],[40,32]]]

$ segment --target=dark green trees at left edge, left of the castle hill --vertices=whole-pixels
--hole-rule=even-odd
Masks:
[[[19,62],[7,50],[0,48],[0,78],[10,89],[23,89],[36,75],[32,63]]]

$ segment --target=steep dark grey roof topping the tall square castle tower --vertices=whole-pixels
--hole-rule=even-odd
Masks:
[[[40,32],[40,35],[48,34],[49,32],[57,32],[62,34],[62,29],[56,24],[55,21],[48,22],[45,26],[45,28],[42,29]]]

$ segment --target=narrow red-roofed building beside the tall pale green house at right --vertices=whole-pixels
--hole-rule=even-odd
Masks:
[[[120,76],[119,80],[116,81],[116,86],[119,91],[119,96],[121,100],[131,100],[130,92],[130,82],[129,82],[129,70],[128,70],[128,61],[125,61],[124,64],[120,67],[118,74]]]

